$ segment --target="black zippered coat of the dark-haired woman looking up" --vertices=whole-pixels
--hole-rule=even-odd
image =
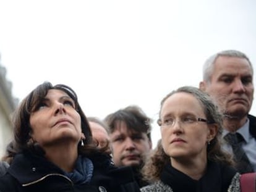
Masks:
[[[113,191],[139,192],[130,167],[117,168],[105,155],[88,157],[93,162],[90,182],[74,183],[63,170],[44,157],[30,153],[17,154],[6,175],[0,177],[0,191]]]

